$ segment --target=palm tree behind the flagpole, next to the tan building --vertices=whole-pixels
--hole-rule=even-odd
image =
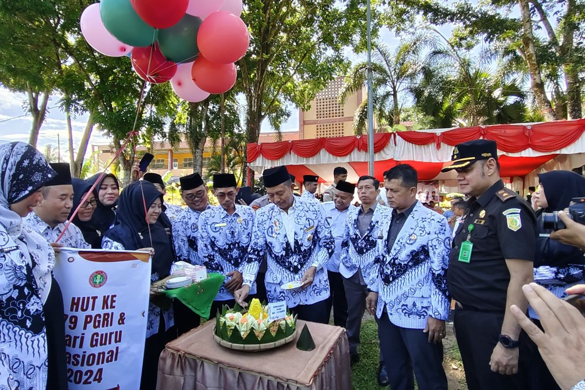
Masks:
[[[385,124],[400,124],[399,96],[408,91],[409,85],[417,80],[424,66],[421,53],[425,47],[433,46],[434,40],[428,34],[417,34],[392,50],[386,44],[377,43],[371,63],[373,73],[374,116],[378,127]],[[350,96],[363,88],[367,80],[367,62],[355,65],[345,79],[339,102],[344,104]],[[357,108],[354,131],[363,134],[367,125],[367,102]]]

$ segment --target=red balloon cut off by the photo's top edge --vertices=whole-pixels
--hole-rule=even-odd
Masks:
[[[130,4],[144,22],[155,29],[167,29],[185,16],[189,0],[130,0]]]

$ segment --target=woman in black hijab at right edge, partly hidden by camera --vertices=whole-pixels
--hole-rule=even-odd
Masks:
[[[533,199],[539,207],[536,210],[538,233],[543,235],[552,233],[552,230],[543,227],[542,214],[563,210],[569,207],[573,198],[585,196],[585,178],[571,171],[550,171],[539,174],[538,178],[541,185]],[[576,247],[551,240],[549,237],[540,236],[536,239],[534,281],[559,298],[567,296],[565,292],[567,288],[584,282],[584,263],[583,253]],[[541,327],[534,310],[529,308],[528,312],[536,325]],[[531,389],[559,389],[536,346],[533,345],[532,348]]]

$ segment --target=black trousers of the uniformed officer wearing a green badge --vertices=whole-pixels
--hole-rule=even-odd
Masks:
[[[455,310],[455,334],[469,390],[531,389],[528,336],[524,332],[519,337],[518,374],[501,375],[490,369],[491,354],[500,338],[503,322],[504,313]]]

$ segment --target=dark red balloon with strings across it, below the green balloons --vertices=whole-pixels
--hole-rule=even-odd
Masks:
[[[177,64],[164,58],[157,43],[153,46],[135,47],[130,60],[132,68],[142,80],[154,84],[167,82],[177,73]]]

